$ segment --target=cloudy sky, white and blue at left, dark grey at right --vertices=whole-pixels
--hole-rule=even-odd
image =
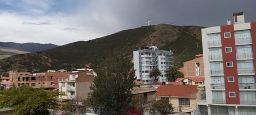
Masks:
[[[0,42],[65,45],[151,24],[213,27],[255,0],[0,0]]]

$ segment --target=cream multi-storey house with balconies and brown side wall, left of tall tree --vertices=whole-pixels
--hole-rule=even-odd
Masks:
[[[68,74],[68,78],[58,78],[59,91],[65,95],[59,96],[61,99],[86,100],[91,92],[90,86],[93,84],[95,73],[92,70],[77,71]]]

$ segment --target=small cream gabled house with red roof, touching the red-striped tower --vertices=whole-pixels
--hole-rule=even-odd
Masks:
[[[183,85],[204,85],[204,77],[177,78],[175,81],[181,82]]]

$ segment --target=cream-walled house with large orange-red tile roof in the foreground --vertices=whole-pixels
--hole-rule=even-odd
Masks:
[[[156,101],[169,100],[174,113],[191,112],[196,109],[197,101],[201,100],[201,92],[196,85],[161,85],[156,91]]]

